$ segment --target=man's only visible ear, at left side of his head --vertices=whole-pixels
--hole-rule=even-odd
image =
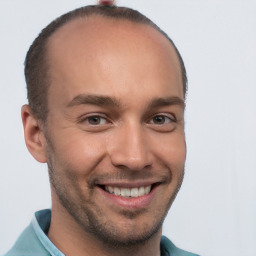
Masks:
[[[33,116],[29,105],[22,106],[21,118],[28,151],[38,162],[46,163],[46,139],[42,125],[40,125],[38,119]]]

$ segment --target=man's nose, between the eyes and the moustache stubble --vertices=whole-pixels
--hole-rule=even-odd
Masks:
[[[139,171],[152,165],[152,152],[142,125],[122,125],[112,136],[108,153],[114,166]]]

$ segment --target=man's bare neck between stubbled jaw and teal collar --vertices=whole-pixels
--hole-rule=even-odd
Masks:
[[[52,205],[49,239],[66,256],[158,256],[160,255],[161,229],[144,243],[129,246],[112,246],[86,232],[60,203]]]

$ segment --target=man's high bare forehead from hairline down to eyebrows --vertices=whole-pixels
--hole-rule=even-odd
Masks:
[[[183,96],[178,57],[170,42],[148,25],[100,16],[78,18],[54,33],[47,54],[49,92],[66,92],[66,100],[79,93],[112,92],[119,97],[149,89],[175,89]]]

